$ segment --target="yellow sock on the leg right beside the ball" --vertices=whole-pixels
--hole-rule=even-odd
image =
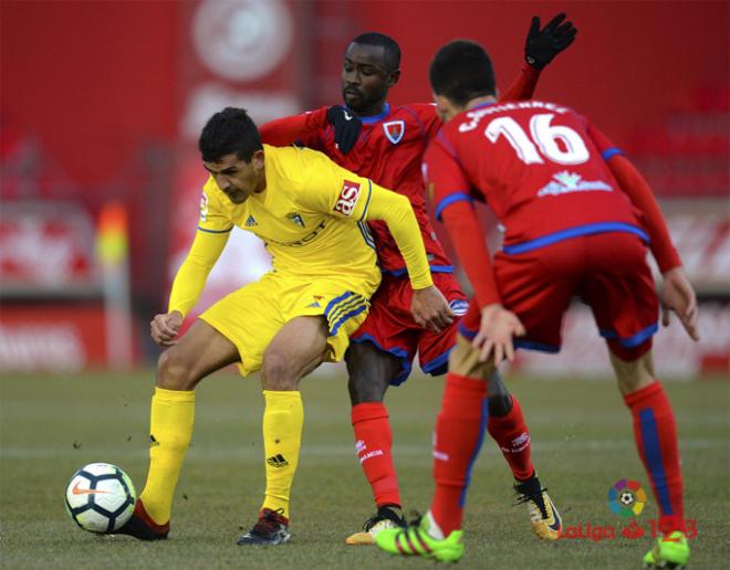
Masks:
[[[177,477],[192,436],[195,392],[155,388],[149,415],[149,472],[139,498],[147,515],[165,525],[170,519]]]

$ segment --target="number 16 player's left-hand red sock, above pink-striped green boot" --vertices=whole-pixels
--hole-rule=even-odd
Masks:
[[[471,466],[484,437],[487,382],[449,372],[434,435],[431,516],[444,536],[461,528]]]

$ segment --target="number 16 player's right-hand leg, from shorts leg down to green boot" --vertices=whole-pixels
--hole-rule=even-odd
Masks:
[[[682,535],[677,428],[671,404],[654,372],[650,348],[659,312],[646,247],[630,234],[603,234],[586,241],[591,247],[587,257],[595,266],[582,296],[607,339],[618,389],[632,413],[636,446],[659,508],[659,527],[670,538],[660,539],[658,550],[647,557],[659,556],[657,566],[684,564],[689,548]],[[668,558],[661,559],[665,555]]]

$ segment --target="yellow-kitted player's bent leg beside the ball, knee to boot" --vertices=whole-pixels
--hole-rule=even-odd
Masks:
[[[167,537],[175,487],[192,436],[195,387],[239,359],[236,346],[199,319],[160,355],[150,409],[147,483],[133,518],[119,532],[143,540]]]

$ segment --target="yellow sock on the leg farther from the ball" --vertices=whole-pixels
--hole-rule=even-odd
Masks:
[[[298,391],[263,391],[263,450],[267,460],[267,493],[261,508],[284,509],[289,518],[289,493],[299,463],[304,408]]]

